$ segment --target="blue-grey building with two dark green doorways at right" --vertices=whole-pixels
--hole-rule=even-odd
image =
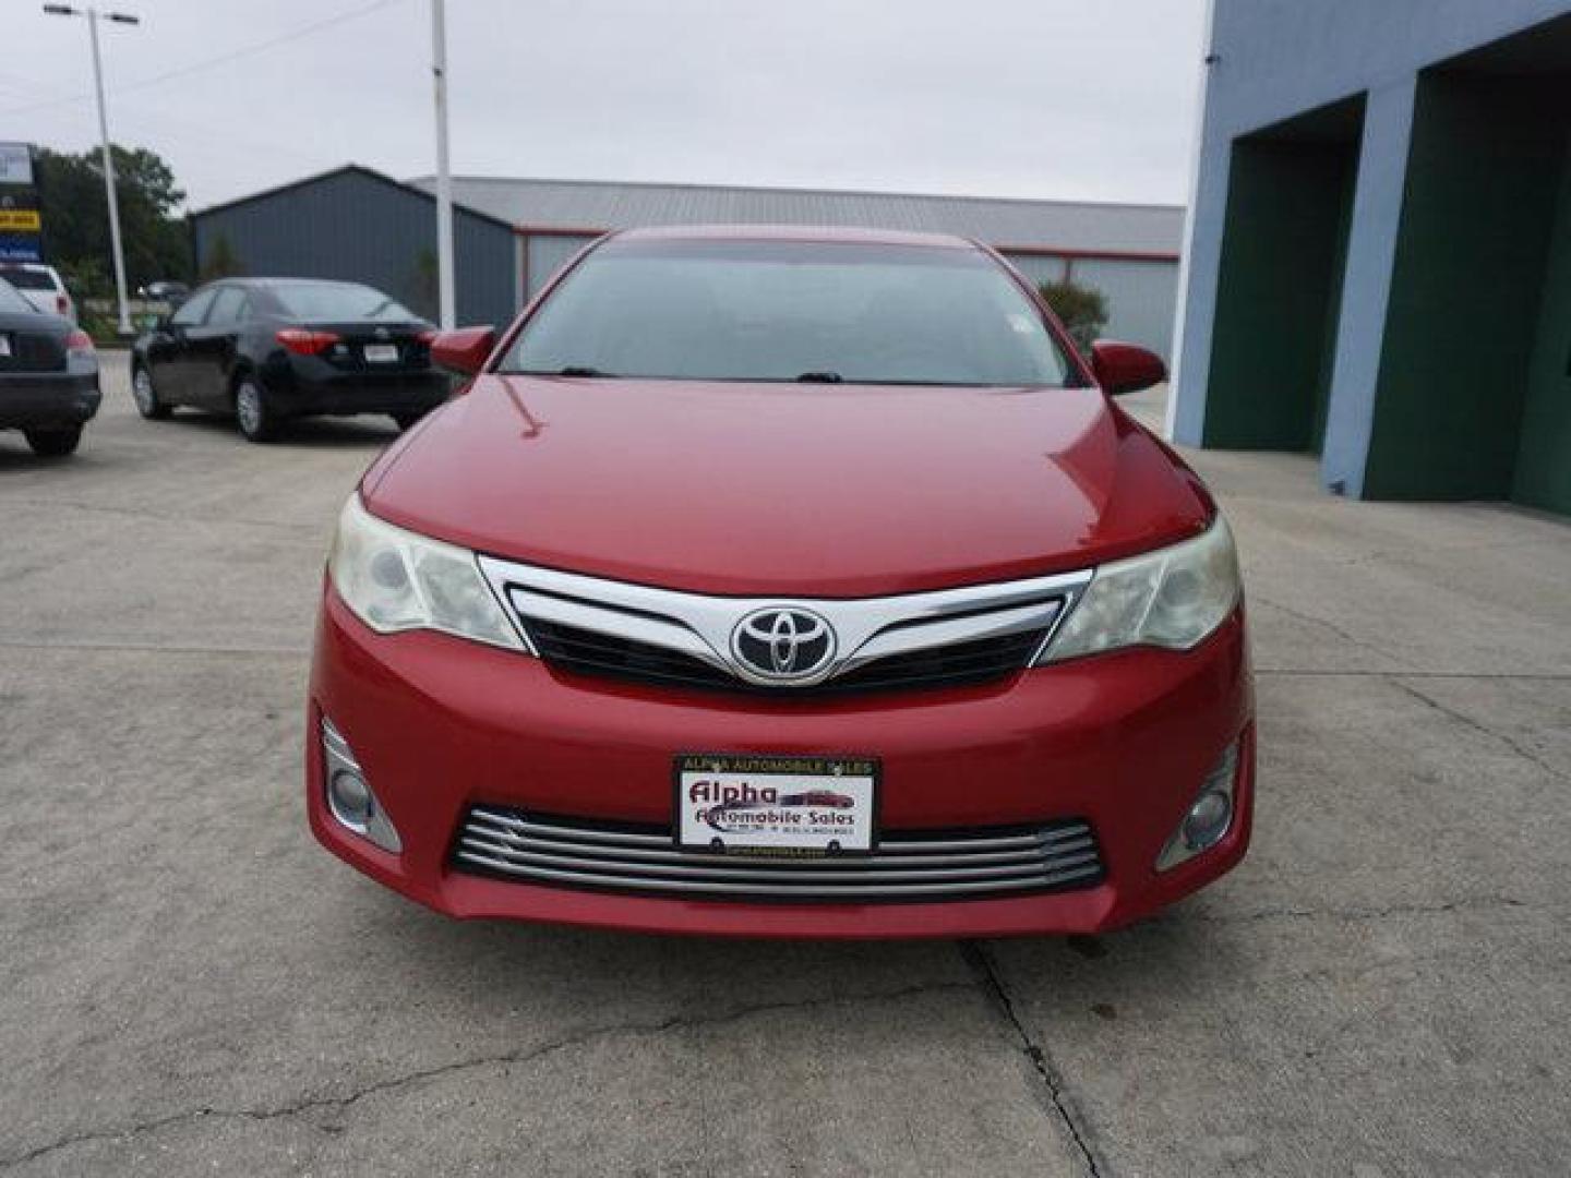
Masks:
[[[1178,441],[1571,512],[1571,3],[1214,0]]]

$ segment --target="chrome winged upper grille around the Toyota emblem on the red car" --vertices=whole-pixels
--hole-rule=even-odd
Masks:
[[[1031,666],[1089,572],[861,598],[713,597],[606,581],[482,556],[481,569],[534,653],[564,671],[655,686],[781,696],[968,686]],[[792,613],[829,631],[822,664],[749,666],[749,619]]]

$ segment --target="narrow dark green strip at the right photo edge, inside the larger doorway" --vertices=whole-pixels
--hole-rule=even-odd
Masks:
[[[1527,364],[1511,498],[1571,514],[1571,137],[1560,159],[1560,196]]]

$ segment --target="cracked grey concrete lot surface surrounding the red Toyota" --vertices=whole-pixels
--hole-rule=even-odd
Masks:
[[[1563,1175],[1571,528],[1197,454],[1255,845],[1097,939],[460,924],[320,851],[322,558],[394,437],[0,435],[0,1175]],[[1150,397],[1136,402],[1150,415]]]

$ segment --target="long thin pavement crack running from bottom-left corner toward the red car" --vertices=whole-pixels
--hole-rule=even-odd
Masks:
[[[113,1129],[88,1129],[85,1132],[75,1132],[68,1137],[60,1137],[53,1142],[46,1142],[44,1145],[33,1147],[24,1153],[14,1154],[11,1158],[0,1158],[0,1170],[11,1170],[17,1165],[25,1165],[27,1162],[36,1161],[60,1150],[69,1150],[75,1145],[86,1145],[90,1142],[105,1142],[119,1140],[124,1137],[140,1137],[149,1132],[157,1132],[159,1129],[167,1129],[171,1125],[182,1125],[189,1121],[201,1121],[209,1117],[218,1120],[247,1120],[247,1121],[273,1121],[284,1120],[289,1117],[298,1117],[302,1114],[316,1112],[320,1109],[344,1110],[349,1109],[368,1096],[377,1096],[386,1092],[396,1092],[399,1088],[407,1088],[415,1084],[423,1084],[426,1081],[441,1079],[462,1071],[471,1071],[476,1068],[495,1068],[533,1063],[536,1060],[545,1059],[547,1055],[555,1055],[561,1051],[570,1051],[572,1048],[586,1046],[589,1043],[597,1043],[600,1040],[616,1038],[619,1035],[647,1035],[660,1037],[672,1030],[690,1030],[698,1027],[720,1027],[731,1023],[740,1023],[757,1015],[773,1015],[779,1012],[790,1010],[809,1010],[814,1007],[833,1007],[833,1005],[855,1005],[862,1002],[900,1002],[908,997],[916,997],[921,994],[943,994],[943,993],[966,993],[976,994],[976,983],[972,982],[928,982],[914,986],[902,986],[899,990],[888,990],[883,993],[870,994],[845,994],[836,997],[809,997],[796,999],[790,1002],[760,1002],[751,1007],[737,1007],[723,1015],[715,1015],[709,1018],[691,1018],[683,1015],[672,1015],[671,1018],[660,1019],[657,1023],[617,1023],[603,1027],[588,1027],[583,1030],[575,1030],[561,1038],[550,1040],[547,1043],[536,1044],[533,1048],[525,1048],[518,1051],[503,1051],[492,1055],[476,1055],[473,1059],[452,1060],[449,1063],[438,1063],[429,1068],[418,1068],[399,1076],[390,1076],[386,1079],[372,1081],[364,1084],[342,1096],[306,1096],[292,1104],[281,1104],[272,1109],[218,1109],[212,1106],[203,1106],[200,1109],[185,1109],[182,1112],[173,1112],[165,1117],[156,1117],[146,1121],[135,1121],[132,1125],[123,1125]]]

